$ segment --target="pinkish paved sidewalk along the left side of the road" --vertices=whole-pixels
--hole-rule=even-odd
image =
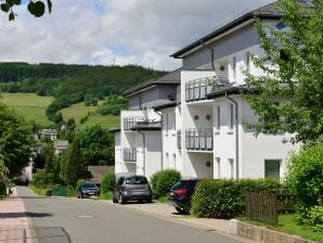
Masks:
[[[10,197],[0,201],[0,243],[31,243],[30,226],[24,202],[16,188]]]

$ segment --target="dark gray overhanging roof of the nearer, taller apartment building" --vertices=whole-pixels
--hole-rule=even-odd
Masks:
[[[279,20],[283,16],[283,12],[279,9],[279,3],[280,1],[275,1],[273,3],[270,3],[268,5],[264,5],[262,8],[259,8],[257,10],[247,12],[245,14],[243,14],[242,16],[235,18],[234,21],[229,22],[228,24],[217,28],[215,31],[199,38],[198,40],[190,43],[189,46],[180,49],[179,51],[175,52],[173,54],[171,54],[170,56],[175,57],[175,59],[182,59],[183,55],[193,50],[194,48],[197,47],[202,47],[203,43],[216,38],[217,36],[222,35],[223,33],[238,26],[240,24],[255,18],[255,17],[259,17],[259,18],[268,18],[268,20]]]

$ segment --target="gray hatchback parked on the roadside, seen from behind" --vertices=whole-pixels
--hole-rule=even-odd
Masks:
[[[120,176],[114,188],[113,202],[124,204],[127,201],[152,202],[153,193],[144,176]]]

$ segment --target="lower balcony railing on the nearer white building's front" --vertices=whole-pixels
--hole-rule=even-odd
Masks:
[[[185,131],[186,150],[211,151],[214,149],[212,128],[193,128]]]

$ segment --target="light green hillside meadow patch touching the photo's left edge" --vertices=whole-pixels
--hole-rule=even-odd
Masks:
[[[46,116],[47,106],[53,101],[52,97],[39,97],[35,93],[1,93],[2,101],[27,123],[34,120],[42,127],[53,126]]]

